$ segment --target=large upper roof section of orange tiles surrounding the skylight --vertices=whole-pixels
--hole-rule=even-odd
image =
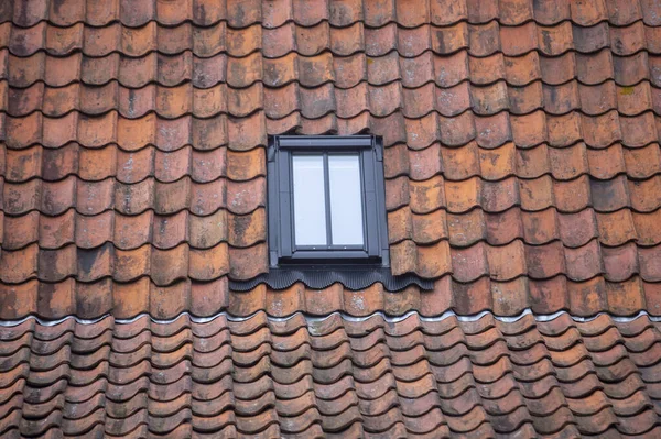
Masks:
[[[2,2],[0,317],[661,314],[661,7],[421,4]],[[292,132],[383,136],[433,292],[229,290]]]

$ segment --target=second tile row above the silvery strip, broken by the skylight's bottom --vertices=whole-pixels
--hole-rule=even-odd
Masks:
[[[68,244],[48,250],[32,243],[20,250],[2,250],[0,281],[18,284],[31,278],[59,282],[75,277],[94,282],[111,276],[117,282],[129,282],[149,276],[156,285],[166,286],[182,278],[206,282],[227,274],[235,279],[248,279],[268,271],[263,242],[249,248],[228,246],[226,241],[203,249],[193,244],[184,242],[164,250],[144,244],[121,250],[105,242],[93,249]],[[452,273],[460,283],[483,276],[512,281],[520,276],[546,279],[556,275],[579,282],[602,274],[615,282],[637,274],[648,282],[661,282],[661,246],[642,248],[633,242],[607,248],[593,239],[572,249],[561,241],[530,245],[517,239],[500,246],[478,242],[469,248],[453,249],[447,240],[430,245],[408,240],[391,245],[390,256],[393,275],[415,273],[424,278],[437,278]],[[246,260],[251,263],[241,266]]]

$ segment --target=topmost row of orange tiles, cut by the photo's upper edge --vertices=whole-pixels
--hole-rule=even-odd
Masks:
[[[598,0],[575,3],[570,0],[550,3],[530,0],[425,0],[418,8],[410,8],[404,0],[386,0],[378,3],[361,0],[333,2],[323,0],[311,6],[304,0],[286,0],[278,4],[258,0],[184,0],[176,6],[163,0],[134,4],[127,0],[113,0],[98,4],[94,0],[68,0],[63,6],[55,1],[40,0],[29,4],[11,0],[0,9],[0,22],[11,21],[23,28],[41,21],[57,26],[86,23],[106,26],[121,22],[126,26],[141,26],[155,21],[162,25],[192,22],[199,26],[226,21],[231,28],[241,29],[261,23],[264,28],[278,28],[288,22],[312,26],[329,22],[344,28],[357,22],[378,28],[397,22],[404,28],[425,23],[451,25],[459,21],[485,23],[498,20],[503,25],[520,25],[534,20],[552,25],[571,20],[582,26],[608,21],[614,25],[628,25],[642,20],[648,25],[659,25],[661,8],[652,1]]]

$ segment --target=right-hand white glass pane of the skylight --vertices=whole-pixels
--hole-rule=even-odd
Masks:
[[[358,155],[329,155],[330,224],[334,245],[362,245],[362,198]]]

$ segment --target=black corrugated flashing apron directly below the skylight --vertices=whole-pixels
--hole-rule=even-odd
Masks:
[[[376,283],[383,284],[389,292],[399,292],[411,285],[421,289],[434,289],[434,281],[423,279],[415,274],[393,276],[387,267],[281,267],[271,268],[248,281],[229,281],[229,287],[236,292],[248,292],[260,284],[267,284],[273,289],[284,289],[302,282],[308,288],[323,289],[339,283],[348,289],[365,289]]]

